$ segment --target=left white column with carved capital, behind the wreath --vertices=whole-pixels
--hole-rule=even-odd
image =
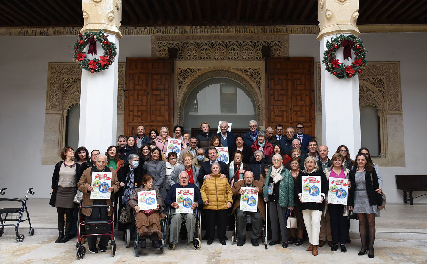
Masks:
[[[106,70],[91,73],[82,70],[80,95],[79,146],[89,152],[99,149],[101,153],[117,142],[117,72],[119,66],[121,0],[83,0],[82,14],[85,24],[81,32],[103,30],[108,40],[117,46],[114,63]],[[86,47],[88,49],[88,47]],[[97,54],[102,55],[98,43]],[[91,57],[92,55],[88,55]]]

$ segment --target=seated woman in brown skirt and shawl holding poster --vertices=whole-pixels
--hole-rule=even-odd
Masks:
[[[147,238],[150,239],[153,248],[160,247],[160,220],[166,217],[166,215],[161,212],[163,210],[163,200],[160,196],[159,189],[154,187],[153,182],[153,176],[144,175],[141,181],[141,187],[135,188],[128,199],[129,208],[133,208],[135,210],[135,224],[138,228],[138,234],[140,235],[141,239],[141,247],[143,248],[146,245],[145,240]],[[156,193],[157,209],[154,213],[151,213],[150,215],[146,215],[143,211],[141,211],[141,208],[138,206],[138,199],[144,198],[143,196],[139,198],[138,192],[144,191],[155,191]]]

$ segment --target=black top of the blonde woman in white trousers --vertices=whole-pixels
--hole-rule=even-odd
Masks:
[[[322,195],[323,201],[322,201],[322,204],[318,204],[315,202],[301,203],[298,195],[302,192],[302,177],[301,176],[305,176],[305,175],[308,175],[308,173],[300,171],[298,174],[298,177],[295,179],[295,183],[294,183],[294,194],[297,196],[298,209],[300,210],[300,212],[302,212],[305,209],[323,211],[323,209],[325,208],[325,203],[326,203],[325,196],[323,196],[323,195],[326,195],[329,191],[328,179],[326,178],[326,175],[322,169],[319,169],[315,172],[311,172],[310,175],[313,175],[313,176],[319,176],[320,175],[320,193],[321,194],[323,193],[323,195]]]

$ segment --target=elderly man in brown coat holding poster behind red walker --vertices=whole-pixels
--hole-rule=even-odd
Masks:
[[[80,178],[79,183],[77,184],[77,187],[79,190],[83,192],[83,204],[82,206],[88,206],[93,204],[106,204],[106,205],[112,205],[112,195],[110,195],[110,198],[91,198],[92,192],[95,192],[95,189],[99,191],[99,187],[102,189],[102,193],[105,194],[108,192],[108,194],[113,194],[115,192],[119,191],[119,181],[117,181],[116,171],[112,168],[109,168],[107,165],[107,156],[105,154],[99,154],[97,156],[96,160],[96,166],[93,166],[91,168],[86,169],[82,177]],[[104,186],[102,187],[101,184],[104,182],[92,182],[92,175],[111,175],[111,184],[109,187]],[[104,177],[104,176],[102,176]],[[108,178],[108,177],[106,177]],[[104,193],[105,192],[105,193]],[[86,221],[105,221],[107,219],[111,218],[111,215],[113,214],[112,209],[107,208],[89,208],[89,209],[82,209],[82,213],[86,215]],[[89,231],[86,230],[87,234],[95,234],[95,232],[98,232],[98,230],[95,229],[95,225],[88,226],[90,229]],[[99,227],[99,230],[102,227]],[[111,232],[111,225],[107,225],[107,232]],[[89,251],[91,253],[97,253],[97,247],[96,247],[96,236],[88,236],[88,247]],[[102,252],[107,251],[108,241],[110,240],[109,235],[102,235],[101,240],[99,241],[98,247],[99,250]]]

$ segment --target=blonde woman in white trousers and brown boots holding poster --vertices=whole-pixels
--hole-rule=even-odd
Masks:
[[[325,195],[328,192],[328,180],[316,160],[308,156],[304,161],[304,170],[295,180],[295,194],[299,198],[299,210],[304,218],[310,247],[314,256],[319,254],[320,218],[325,207]]]

